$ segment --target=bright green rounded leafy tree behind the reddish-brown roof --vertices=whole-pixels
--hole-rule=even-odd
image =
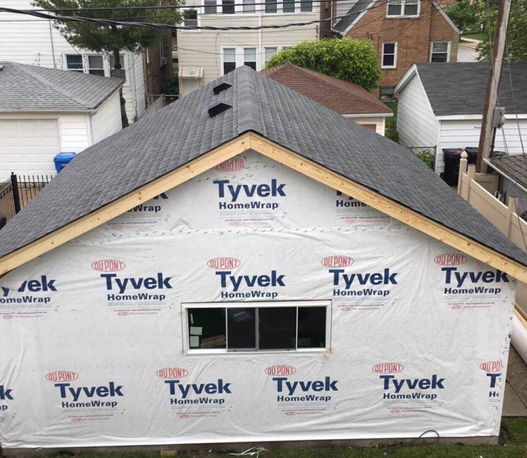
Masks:
[[[293,65],[361,85],[372,92],[381,79],[377,52],[368,40],[331,38],[302,42],[273,56],[266,68]]]

